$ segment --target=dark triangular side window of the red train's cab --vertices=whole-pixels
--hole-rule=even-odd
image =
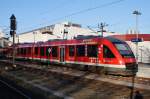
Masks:
[[[104,58],[115,58],[115,55],[112,53],[112,51],[107,47],[103,46],[103,57]]]

